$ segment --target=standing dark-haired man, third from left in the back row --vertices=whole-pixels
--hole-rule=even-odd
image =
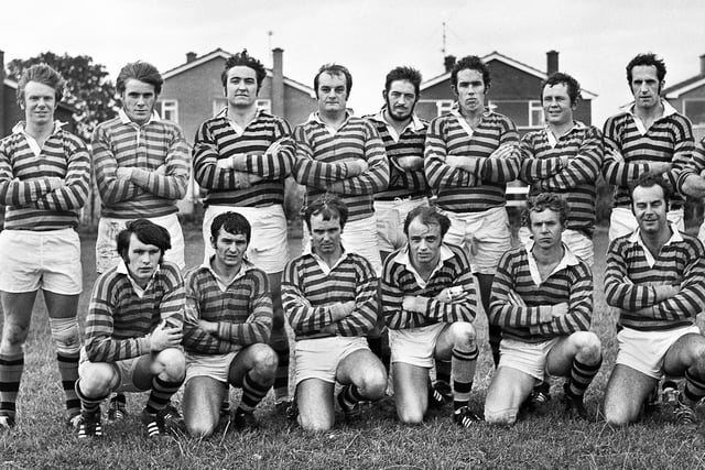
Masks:
[[[275,407],[286,413],[289,397],[289,337],[281,303],[281,278],[289,261],[284,179],[289,176],[294,142],[289,123],[257,108],[267,69],[247,50],[226,61],[220,75],[228,105],[203,122],[193,149],[194,178],[208,192],[204,206],[204,263],[215,253],[210,225],[223,212],[245,216],[252,227],[247,258],[269,277],[273,305],[270,346],[279,368],[274,381]]]

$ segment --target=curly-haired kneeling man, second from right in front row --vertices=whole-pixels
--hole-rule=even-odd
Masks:
[[[485,403],[485,419],[512,425],[536,383],[564,376],[564,414],[587,419],[585,391],[603,362],[599,338],[589,331],[593,273],[563,243],[570,220],[565,199],[541,193],[527,201],[530,243],[510,250],[492,284],[489,320],[502,328],[501,358]]]

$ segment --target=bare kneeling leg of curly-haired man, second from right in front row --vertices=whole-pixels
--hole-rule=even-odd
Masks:
[[[517,423],[519,407],[529,397],[535,381],[535,378],[513,368],[497,369],[485,398],[485,420],[502,426]]]

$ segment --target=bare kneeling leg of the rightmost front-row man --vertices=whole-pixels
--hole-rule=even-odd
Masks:
[[[625,364],[616,364],[605,390],[605,420],[615,426],[637,422],[641,406],[658,379]]]

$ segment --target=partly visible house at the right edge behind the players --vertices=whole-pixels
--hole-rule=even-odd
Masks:
[[[705,136],[705,54],[699,56],[701,73],[664,88],[661,95],[693,123],[695,139]]]

